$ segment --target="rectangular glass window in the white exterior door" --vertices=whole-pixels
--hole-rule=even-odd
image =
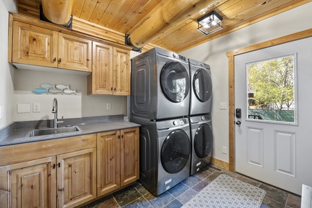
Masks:
[[[248,118],[297,123],[295,55],[246,64]]]

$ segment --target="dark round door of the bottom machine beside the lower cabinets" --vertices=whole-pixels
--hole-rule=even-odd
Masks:
[[[168,173],[178,173],[187,164],[190,155],[190,142],[183,130],[173,130],[164,140],[160,158]]]

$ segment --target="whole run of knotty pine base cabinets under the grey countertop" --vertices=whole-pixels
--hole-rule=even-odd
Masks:
[[[139,128],[0,147],[1,208],[77,207],[138,179]]]

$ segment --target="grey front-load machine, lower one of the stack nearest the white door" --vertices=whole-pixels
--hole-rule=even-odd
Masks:
[[[210,114],[190,116],[191,126],[191,175],[211,164],[212,125]]]

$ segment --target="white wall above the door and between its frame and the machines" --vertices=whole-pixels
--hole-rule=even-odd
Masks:
[[[229,147],[229,112],[220,110],[220,103],[229,102],[227,51],[241,49],[277,37],[312,28],[312,2],[283,12],[251,26],[218,37],[205,44],[183,51],[182,55],[210,64],[214,92],[212,124],[214,131],[214,153],[217,159],[229,162],[222,147]],[[195,30],[196,28],[194,28]],[[199,32],[198,32],[199,33]],[[309,49],[311,50],[311,49]],[[227,151],[228,153],[228,151]]]

